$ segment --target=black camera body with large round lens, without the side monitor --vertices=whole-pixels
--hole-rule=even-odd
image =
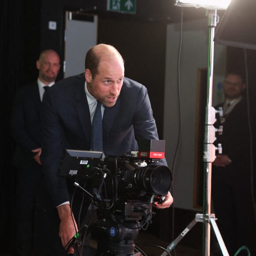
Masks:
[[[143,159],[128,154],[109,156],[101,163],[101,169],[111,173],[105,180],[114,178],[118,197],[121,198],[142,200],[146,195],[149,198],[153,194],[166,196],[171,186],[171,172],[167,166],[160,165],[159,159]]]

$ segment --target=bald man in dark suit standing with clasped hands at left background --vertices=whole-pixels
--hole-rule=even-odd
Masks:
[[[51,87],[60,69],[59,55],[49,49],[41,52],[36,62],[38,79],[17,91],[11,130],[16,142],[13,165],[17,169],[17,253],[32,253],[34,207],[38,184],[42,177],[40,162],[42,139],[42,98],[44,87]]]

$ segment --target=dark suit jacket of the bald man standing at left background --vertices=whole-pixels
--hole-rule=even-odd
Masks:
[[[11,131],[16,142],[13,164],[16,167],[25,168],[35,164],[31,150],[41,147],[41,111],[38,83],[20,87],[11,117]]]

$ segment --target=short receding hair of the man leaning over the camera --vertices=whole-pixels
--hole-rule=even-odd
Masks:
[[[99,45],[105,45],[105,44],[99,44]],[[106,45],[106,46],[109,47],[109,49],[112,49],[113,52],[117,53],[117,55],[120,56],[120,59],[124,62],[123,57],[121,56],[121,54],[117,51],[117,49],[114,46],[112,46],[112,45]],[[86,54],[86,57],[85,57],[85,69],[88,68],[90,70],[90,73],[92,75],[92,79],[94,79],[94,77],[98,73],[98,66],[99,66],[99,63],[101,61],[102,56],[108,56],[109,55],[109,57],[113,57],[113,55],[111,55],[107,51],[102,51],[102,53],[104,53],[104,54],[96,53],[94,47],[92,47],[88,50],[88,52]]]

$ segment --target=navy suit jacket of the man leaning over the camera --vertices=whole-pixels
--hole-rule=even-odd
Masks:
[[[84,73],[66,78],[45,93],[41,161],[55,206],[70,200],[64,178],[57,176],[64,149],[90,150],[91,121]],[[103,151],[122,155],[138,151],[137,139],[158,139],[147,89],[124,78],[116,104],[105,108]]]

